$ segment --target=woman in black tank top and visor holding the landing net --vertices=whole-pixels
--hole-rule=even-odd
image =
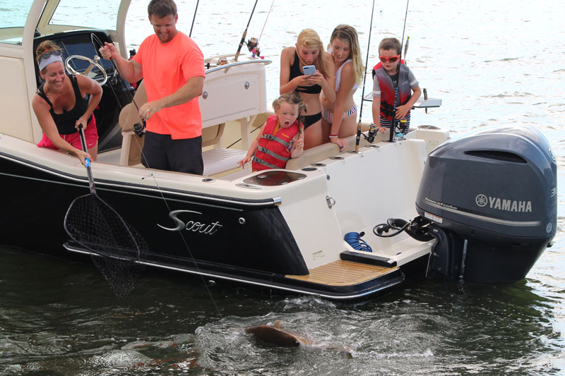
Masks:
[[[102,87],[83,75],[66,75],[61,50],[51,41],[42,42],[36,56],[41,78],[45,80],[32,100],[33,111],[44,133],[38,146],[57,147],[75,154],[83,164],[85,157],[96,160],[97,131],[93,111],[102,97]],[[87,145],[93,144],[88,147],[88,153],[81,148],[78,124],[83,124]]]

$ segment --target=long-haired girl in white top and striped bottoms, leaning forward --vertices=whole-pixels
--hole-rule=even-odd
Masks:
[[[328,50],[335,64],[335,96],[322,95],[322,130],[324,140],[347,147],[346,137],[357,130],[357,106],[353,95],[361,85],[364,66],[357,31],[349,25],[338,25],[331,34]],[[325,94],[325,92],[324,92]]]

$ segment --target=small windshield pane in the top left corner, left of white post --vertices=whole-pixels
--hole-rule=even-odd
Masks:
[[[23,27],[33,0],[6,0],[0,5],[0,43],[22,44]]]

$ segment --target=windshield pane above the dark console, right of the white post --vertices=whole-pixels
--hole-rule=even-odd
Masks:
[[[89,29],[116,30],[121,0],[85,1],[61,0],[49,25],[76,26]]]

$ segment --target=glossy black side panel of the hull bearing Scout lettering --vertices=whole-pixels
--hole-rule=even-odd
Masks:
[[[1,243],[47,253],[60,250],[69,240],[63,229],[66,210],[74,198],[89,193],[88,181],[11,158],[0,158],[0,171],[6,188],[3,206],[11,214],[1,216],[7,230],[0,235]],[[97,181],[96,188],[99,197],[145,238],[149,260],[308,272],[273,200],[175,193],[116,181]]]

